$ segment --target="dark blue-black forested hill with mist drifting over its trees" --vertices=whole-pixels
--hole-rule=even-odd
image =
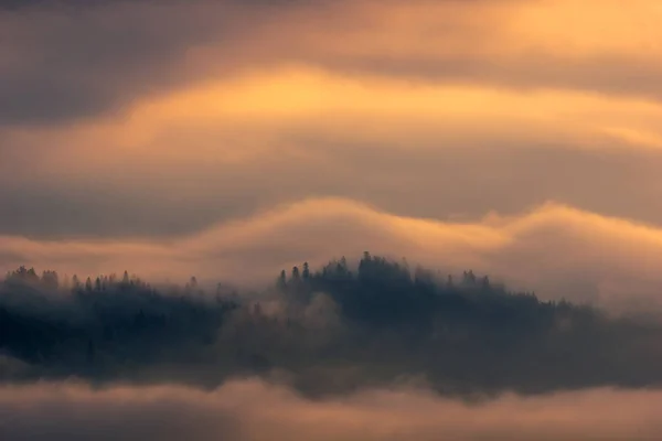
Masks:
[[[456,280],[457,279],[457,280]],[[282,271],[263,292],[81,281],[21,268],[0,283],[0,379],[185,383],[265,376],[309,395],[417,380],[441,394],[656,386],[662,329],[439,277],[364,254]]]

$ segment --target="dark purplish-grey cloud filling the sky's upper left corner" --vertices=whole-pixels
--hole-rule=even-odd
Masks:
[[[245,28],[264,19],[265,11],[247,18],[236,4],[98,2],[0,13],[0,125],[121,112],[139,97],[205,77],[191,51],[225,41],[216,56],[234,57]]]

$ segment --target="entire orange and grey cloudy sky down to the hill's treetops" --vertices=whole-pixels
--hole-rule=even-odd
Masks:
[[[656,301],[661,19],[653,0],[2,1],[0,267],[247,282],[369,249]]]

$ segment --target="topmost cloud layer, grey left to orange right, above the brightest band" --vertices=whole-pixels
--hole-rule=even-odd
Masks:
[[[0,17],[2,122],[88,117],[200,72],[284,63],[659,100],[661,13],[651,0],[38,2]]]

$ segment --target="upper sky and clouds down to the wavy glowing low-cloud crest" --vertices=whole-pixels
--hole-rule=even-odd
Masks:
[[[653,0],[2,6],[0,234],[173,237],[325,196],[662,225]]]

